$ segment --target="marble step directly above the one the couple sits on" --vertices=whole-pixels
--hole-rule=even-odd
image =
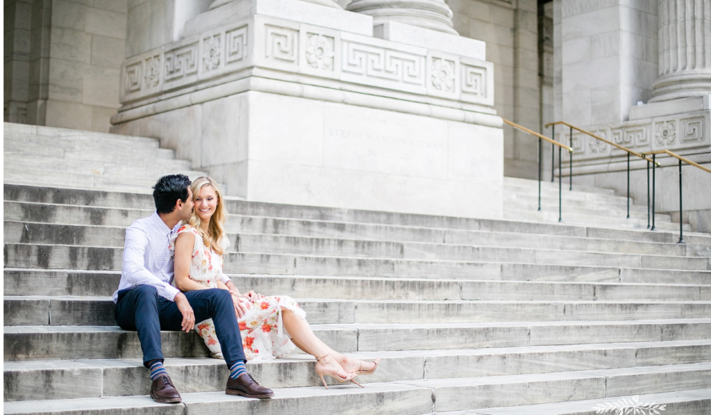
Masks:
[[[703,318],[710,301],[326,300],[296,298],[312,324]],[[116,325],[111,298],[4,297],[4,325]]]

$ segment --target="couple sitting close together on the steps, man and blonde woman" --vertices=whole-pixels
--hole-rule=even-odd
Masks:
[[[138,332],[154,401],[181,401],[163,366],[161,330],[189,332],[196,327],[213,357],[227,362],[225,392],[230,395],[274,396],[252,379],[245,362],[281,357],[294,345],[316,357],[324,387],[324,374],[358,384],[353,378],[375,371],[380,359],[352,359],[321,342],[292,298],[237,290],[222,270],[230,241],[223,228],[225,201],[213,179],[200,177],[191,184],[182,174],[164,176],[153,198],[156,212],[126,229],[114,303],[118,325]]]

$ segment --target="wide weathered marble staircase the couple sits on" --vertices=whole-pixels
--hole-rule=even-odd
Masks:
[[[641,226],[641,211],[624,219],[626,199],[582,187],[565,191],[564,209],[599,224],[549,224],[534,216],[538,184],[520,179],[507,180],[499,221],[228,200],[225,271],[237,286],[294,296],[329,345],[383,361],[359,378],[365,389],[328,390],[304,354],[250,363],[276,392],[258,401],[224,394],[227,368],[194,332],[164,332],[183,404],[155,404],[137,335],[115,327],[110,295],[124,228],[151,214],[146,192],[164,173],[134,169],[133,189],[57,182],[45,169],[20,183],[8,126],[6,414],[592,415],[633,396],[663,415],[711,413],[711,235],[677,244],[678,224],[661,215],[673,231],[634,229],[646,227],[646,206]],[[125,138],[67,134],[86,137],[65,144],[85,154]],[[557,221],[557,188],[545,191]]]

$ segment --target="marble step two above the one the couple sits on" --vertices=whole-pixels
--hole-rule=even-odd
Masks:
[[[628,272],[630,271],[630,272]],[[647,274],[673,275],[668,270],[644,270]],[[333,277],[315,275],[230,274],[242,290],[264,295],[291,295],[294,298],[342,300],[577,300],[577,301],[708,301],[711,272],[678,271],[679,279],[693,283],[659,282],[649,275],[649,283],[625,270],[596,282],[466,280],[432,278]],[[628,275],[631,274],[631,275]],[[119,286],[119,271],[41,270],[6,268],[5,295],[105,297]]]

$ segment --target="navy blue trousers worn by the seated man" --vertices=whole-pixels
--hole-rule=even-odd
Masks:
[[[236,360],[246,360],[230,292],[210,288],[183,294],[193,308],[196,324],[208,318],[213,319],[225,362],[230,365]],[[156,288],[151,285],[138,285],[119,291],[114,316],[119,327],[138,332],[146,367],[153,360],[163,361],[161,330],[179,331],[183,322],[183,315],[176,303],[159,297]]]

